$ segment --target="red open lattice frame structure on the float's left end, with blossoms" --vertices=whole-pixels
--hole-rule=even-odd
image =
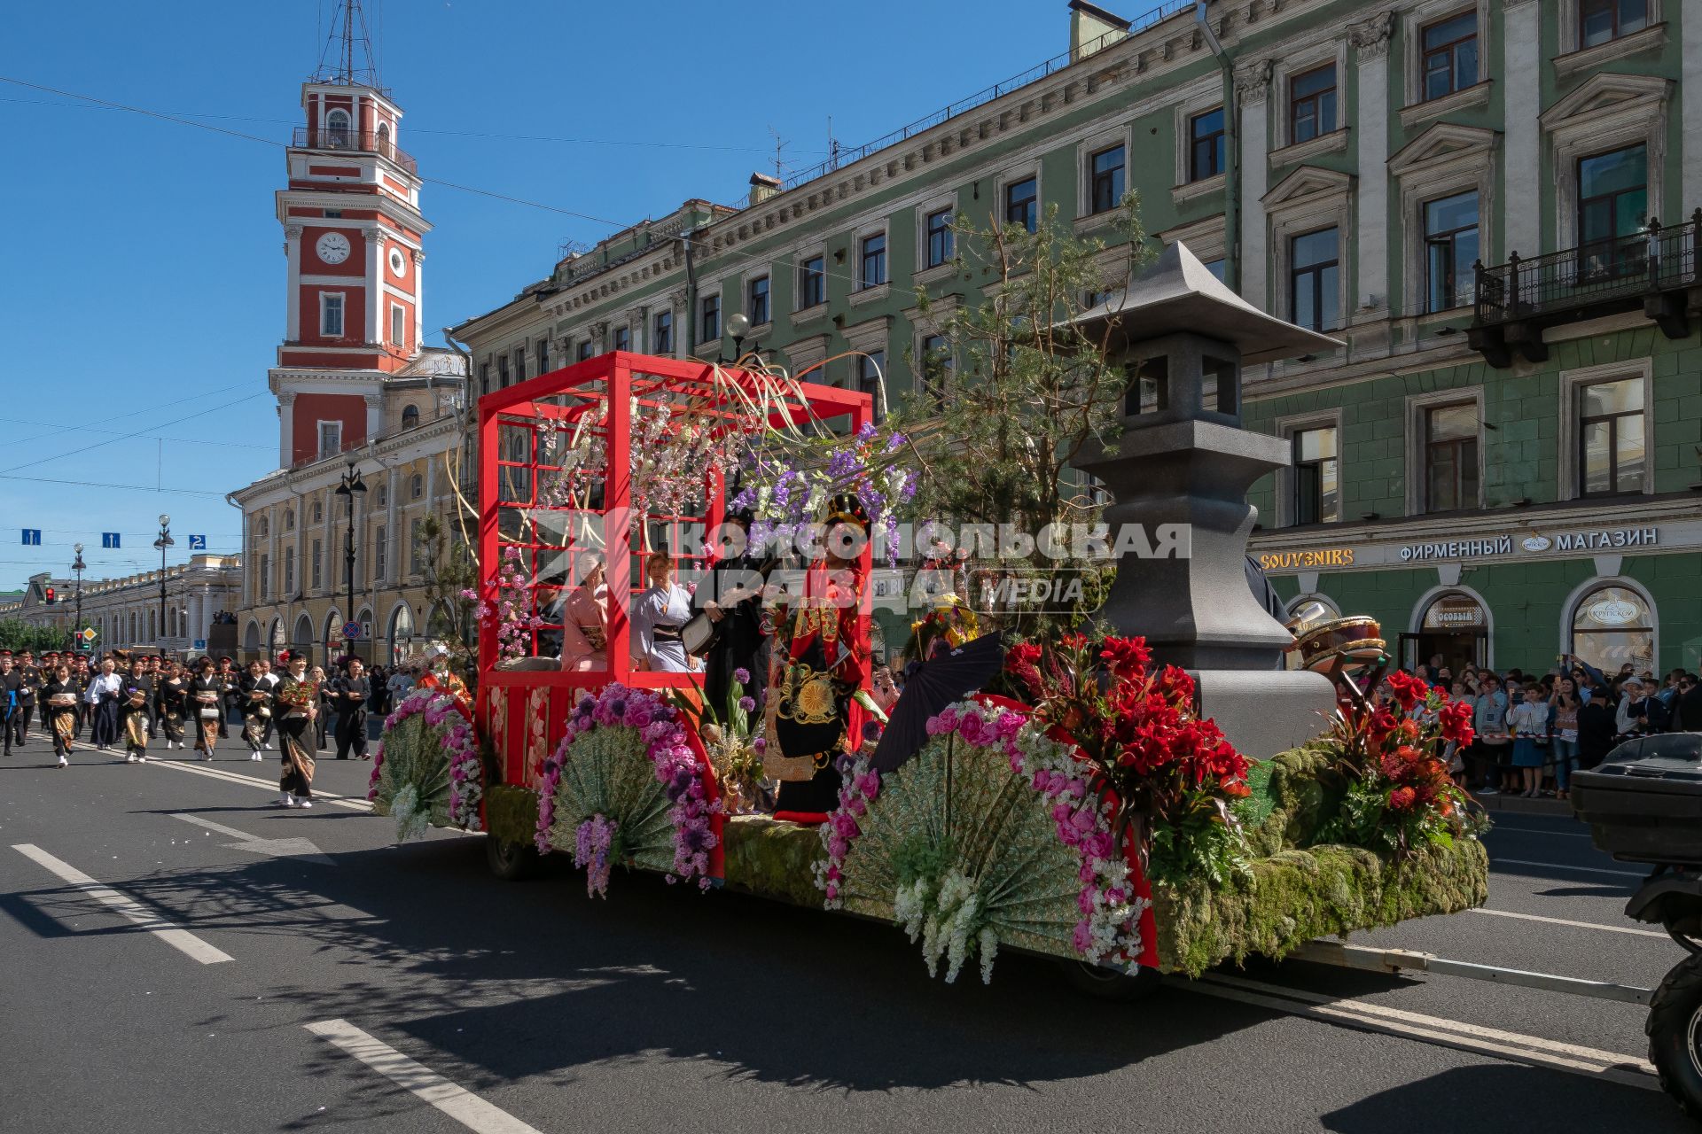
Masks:
[[[540,614],[536,587],[540,578],[551,588],[572,587],[577,549],[596,546],[579,542],[585,534],[601,532],[597,551],[606,558],[604,578],[609,588],[608,666],[591,672],[499,668],[499,643],[494,621],[478,629],[478,726],[502,762],[502,780],[536,787],[543,760],[560,741],[567,712],[580,690],[608,682],[669,690],[691,689],[700,678],[686,673],[650,673],[633,670],[628,607],[635,578],[631,440],[633,408],[654,411],[667,405],[672,415],[710,422],[749,423],[766,406],[768,425],[798,425],[808,420],[844,422],[856,432],[873,417],[873,398],[866,393],[788,383],[785,394],[774,396],[774,383],[745,371],[717,367],[708,362],[664,359],[616,350],[574,366],[540,374],[478,400],[478,563],[480,598],[497,609],[505,597],[524,610]],[[553,430],[553,435],[551,435]],[[562,445],[599,440],[603,468],[585,474],[563,471]],[[548,461],[555,459],[557,464]],[[723,486],[713,474],[698,495],[696,515],[642,517],[645,541],[652,532],[665,534],[669,554],[691,568],[710,566],[715,554],[706,536],[723,519]],[[563,503],[562,495],[568,500]],[[560,539],[555,536],[560,534]],[[689,544],[689,547],[688,547]],[[693,551],[693,547],[701,547]],[[689,554],[683,554],[689,551]],[[647,549],[640,547],[638,556]],[[499,568],[505,556],[517,554],[524,588],[499,588]],[[565,564],[565,570],[562,570]],[[863,551],[863,568],[870,551]],[[683,571],[683,576],[688,573]],[[514,593],[521,590],[524,593]],[[562,592],[565,593],[565,590]],[[865,595],[868,605],[868,595]],[[550,632],[553,627],[545,627]],[[536,651],[538,632],[531,634]]]

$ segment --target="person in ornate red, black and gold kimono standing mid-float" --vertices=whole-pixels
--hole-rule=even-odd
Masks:
[[[839,804],[841,755],[863,745],[863,724],[880,719],[868,694],[868,578],[861,556],[842,551],[836,532],[866,539],[868,517],[856,496],[836,496],[829,515],[829,551],[810,564],[803,593],[773,610],[774,666],[764,731],[785,762],[808,760],[808,779],[781,775],[780,811],[822,813]],[[788,770],[790,774],[790,770]]]

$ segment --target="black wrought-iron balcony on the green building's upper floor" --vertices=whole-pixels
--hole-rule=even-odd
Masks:
[[[1702,286],[1702,207],[1683,224],[1591,240],[1542,257],[1476,265],[1472,345],[1496,366],[1510,347],[1545,357],[1542,328],[1642,308],[1668,335],[1688,335],[1685,292]]]

